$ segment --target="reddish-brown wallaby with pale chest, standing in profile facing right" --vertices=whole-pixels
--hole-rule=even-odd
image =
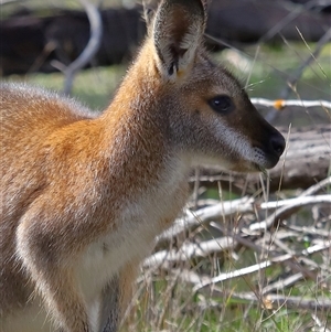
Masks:
[[[1,84],[1,332],[115,332],[192,167],[275,167],[282,136],[203,45],[203,0],[162,0],[110,106]]]

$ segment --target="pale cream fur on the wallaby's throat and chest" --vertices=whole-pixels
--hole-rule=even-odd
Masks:
[[[116,229],[98,237],[79,255],[76,276],[87,302],[97,300],[121,267],[140,261],[152,250],[156,236],[171,225],[185,203],[186,171],[177,167],[161,176],[162,186],[157,184],[128,197],[116,217]]]

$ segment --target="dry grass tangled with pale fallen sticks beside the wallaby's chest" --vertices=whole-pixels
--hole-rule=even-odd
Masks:
[[[330,183],[319,193],[330,194]],[[169,246],[169,256],[145,265],[121,331],[330,331],[330,205],[309,205],[252,232],[266,213],[220,213],[212,221],[202,214],[194,227],[161,242],[157,251]],[[215,250],[204,246],[212,240]]]

